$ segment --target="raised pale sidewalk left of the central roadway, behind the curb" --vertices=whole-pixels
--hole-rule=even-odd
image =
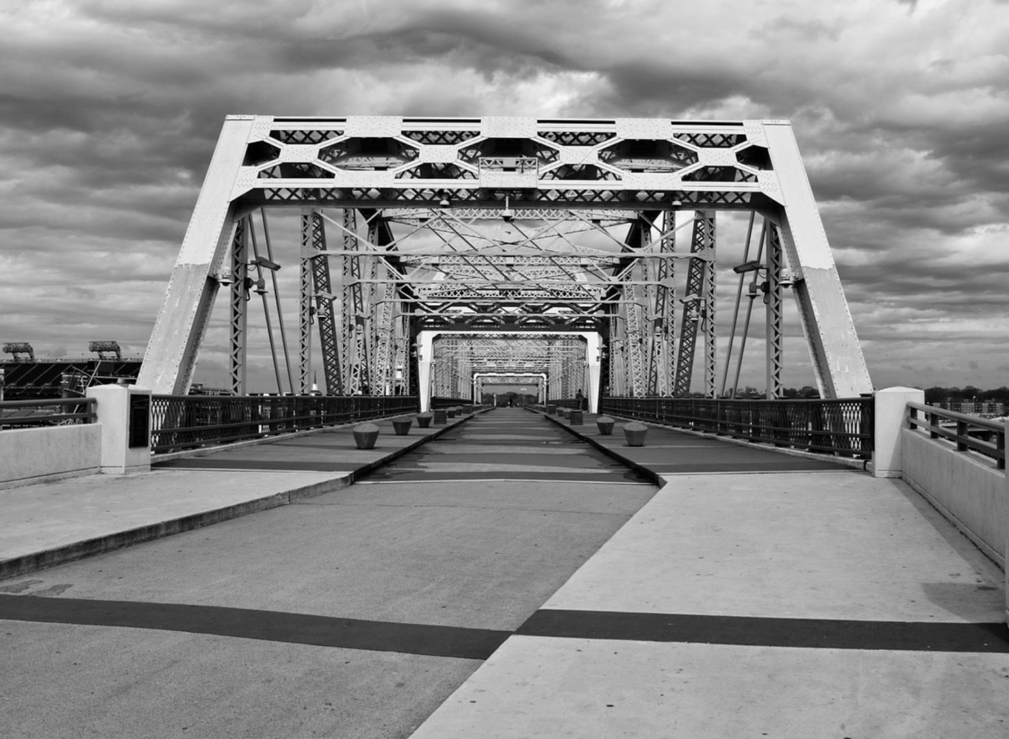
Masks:
[[[0,579],[338,490],[471,417],[404,437],[379,420],[373,450],[346,425],[155,457],[150,473],[0,490]]]

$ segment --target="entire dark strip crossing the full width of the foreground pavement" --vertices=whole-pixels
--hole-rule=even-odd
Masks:
[[[511,631],[279,611],[0,595],[0,619],[185,631],[347,649],[486,659]],[[608,611],[537,611],[520,636],[806,649],[1009,653],[1004,623],[904,623]]]

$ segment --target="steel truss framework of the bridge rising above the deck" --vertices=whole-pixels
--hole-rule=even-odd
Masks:
[[[276,209],[300,214],[297,256],[273,243]],[[750,215],[720,368],[718,211]],[[229,116],[138,384],[188,391],[222,286],[232,393],[246,392],[253,292],[279,384],[267,279],[275,294],[294,259],[297,351],[278,299],[275,312],[296,394],[317,341],[327,394],[419,395],[422,408],[488,377],[542,377],[550,397],[581,390],[592,409],[600,391],[714,397],[735,391],[741,306],[738,362],[762,297],[779,397],[788,291],[821,396],[872,389],[787,121]]]

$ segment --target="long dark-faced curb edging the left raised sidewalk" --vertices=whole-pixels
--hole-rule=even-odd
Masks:
[[[489,408],[481,409],[478,412],[485,412],[486,410],[489,410]],[[10,560],[0,561],[0,580],[6,580],[20,575],[27,575],[28,573],[32,573],[37,570],[44,570],[46,568],[54,567],[55,565],[75,562],[76,560],[82,560],[86,557],[92,557],[94,555],[102,555],[107,551],[129,546],[131,544],[151,541],[163,536],[183,533],[184,531],[192,531],[193,529],[202,528],[203,526],[209,526],[214,523],[220,523],[221,521],[227,521],[232,518],[238,518],[250,513],[268,510],[270,508],[277,508],[299,500],[313,498],[318,495],[323,495],[324,493],[341,490],[342,488],[353,485],[354,481],[361,475],[371,472],[372,470],[375,470],[382,465],[385,465],[388,462],[414,451],[432,439],[437,439],[445,432],[464,423],[474,415],[476,415],[476,413],[454,418],[454,422],[447,423],[432,434],[419,437],[414,443],[409,444],[406,447],[393,450],[387,455],[384,455],[377,460],[361,465],[353,472],[345,473],[330,480],[324,480],[311,485],[293,488],[281,493],[272,493],[262,498],[253,498],[251,500],[242,501],[241,503],[226,505],[221,508],[200,511],[198,513],[176,518],[169,518],[163,521],[149,523],[123,531],[114,531],[102,536],[95,536],[93,538],[63,544],[48,549],[40,549],[29,555],[15,557]],[[272,441],[275,441],[275,439],[276,438],[273,438]],[[217,448],[215,451],[221,451],[221,449],[222,448]]]

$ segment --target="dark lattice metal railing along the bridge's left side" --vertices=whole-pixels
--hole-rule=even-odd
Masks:
[[[180,452],[416,412],[410,395],[151,395],[150,448]]]

